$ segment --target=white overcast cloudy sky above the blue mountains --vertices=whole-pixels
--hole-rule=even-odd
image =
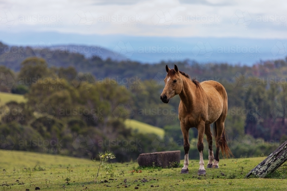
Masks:
[[[287,38],[283,0],[0,0],[0,10],[13,33]]]

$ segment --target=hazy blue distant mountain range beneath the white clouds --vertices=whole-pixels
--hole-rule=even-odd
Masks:
[[[136,34],[135,34],[136,35]],[[216,62],[251,66],[261,60],[284,59],[286,39],[248,39],[214,37],[148,37],[124,35],[82,35],[57,32],[0,31],[0,41],[16,46],[35,47],[41,43],[54,48],[66,46],[99,46],[102,57],[113,60],[133,60],[143,63],[195,60],[199,63]],[[81,54],[80,52],[78,52]],[[91,56],[88,52],[86,55]],[[100,55],[97,53],[97,55]]]

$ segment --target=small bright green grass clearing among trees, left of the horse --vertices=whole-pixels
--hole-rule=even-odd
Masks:
[[[127,126],[127,128],[131,128],[137,131],[137,133],[154,133],[156,135],[164,135],[164,130],[162,128],[148,125],[146,123],[142,123],[133,119],[126,120],[125,125]]]

